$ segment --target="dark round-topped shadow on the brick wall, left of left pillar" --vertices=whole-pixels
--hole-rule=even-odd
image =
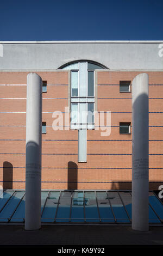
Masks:
[[[10,162],[3,162],[3,190],[12,190],[13,166]]]

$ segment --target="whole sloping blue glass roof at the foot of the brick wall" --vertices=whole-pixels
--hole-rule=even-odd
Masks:
[[[131,191],[42,191],[42,223],[131,224]],[[23,223],[26,192],[0,195],[0,223]],[[163,203],[149,192],[149,224],[163,224]]]

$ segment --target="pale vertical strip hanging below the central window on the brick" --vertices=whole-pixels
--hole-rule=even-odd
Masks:
[[[86,134],[86,129],[78,131],[78,162],[86,162]]]

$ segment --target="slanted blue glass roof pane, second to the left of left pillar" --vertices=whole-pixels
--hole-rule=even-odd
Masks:
[[[24,191],[17,191],[14,195],[10,198],[5,208],[0,213],[0,222],[8,222],[8,218],[14,213],[18,203],[20,202],[21,198],[24,196]]]

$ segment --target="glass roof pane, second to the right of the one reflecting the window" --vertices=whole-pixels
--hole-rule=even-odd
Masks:
[[[99,208],[99,215],[101,217],[101,222],[114,222],[114,216],[112,214],[106,192],[97,191],[96,196],[98,201],[98,208]],[[108,220],[104,220],[104,219],[108,219]]]

